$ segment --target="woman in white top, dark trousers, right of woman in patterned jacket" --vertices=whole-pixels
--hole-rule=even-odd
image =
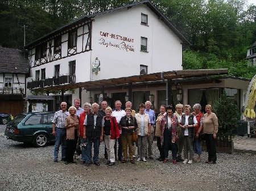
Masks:
[[[181,116],[184,114],[182,112],[183,110],[183,104],[177,104],[175,106],[176,108],[176,112],[174,114],[176,114],[178,121],[181,121]],[[181,128],[180,126],[177,126],[177,135],[178,135],[178,139],[177,139],[177,162],[183,161],[183,158],[181,157],[181,152],[183,150],[183,137],[181,136]]]

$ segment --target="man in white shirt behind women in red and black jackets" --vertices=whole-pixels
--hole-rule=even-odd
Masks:
[[[125,111],[123,109],[121,109],[121,101],[117,100],[115,101],[115,109],[114,111],[112,112],[111,116],[115,117],[117,119],[117,123],[119,124],[121,118],[123,116],[126,115]],[[119,127],[119,129],[121,129]],[[122,161],[122,135],[121,135],[121,131],[120,131],[120,137],[118,139],[118,160],[119,161]],[[115,159],[117,159],[117,141],[115,141]]]

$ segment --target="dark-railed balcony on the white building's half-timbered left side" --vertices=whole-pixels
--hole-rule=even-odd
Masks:
[[[47,78],[39,81],[33,81],[27,83],[28,89],[52,87],[61,84],[71,84],[76,82],[75,75],[61,75],[59,78]]]

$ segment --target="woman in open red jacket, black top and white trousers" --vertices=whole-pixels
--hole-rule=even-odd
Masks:
[[[115,117],[112,117],[112,108],[107,107],[105,109],[106,116],[104,117],[104,141],[106,150],[108,153],[108,162],[106,165],[112,166],[115,164],[115,153],[114,145],[115,139],[118,139],[120,136],[120,131],[118,129],[117,120]],[[127,155],[127,152],[126,152]]]

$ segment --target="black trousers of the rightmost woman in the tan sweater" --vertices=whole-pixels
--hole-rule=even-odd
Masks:
[[[205,145],[207,146],[208,151],[208,161],[216,162],[217,154],[216,154],[216,139],[213,138],[213,134],[204,134],[205,137]]]

